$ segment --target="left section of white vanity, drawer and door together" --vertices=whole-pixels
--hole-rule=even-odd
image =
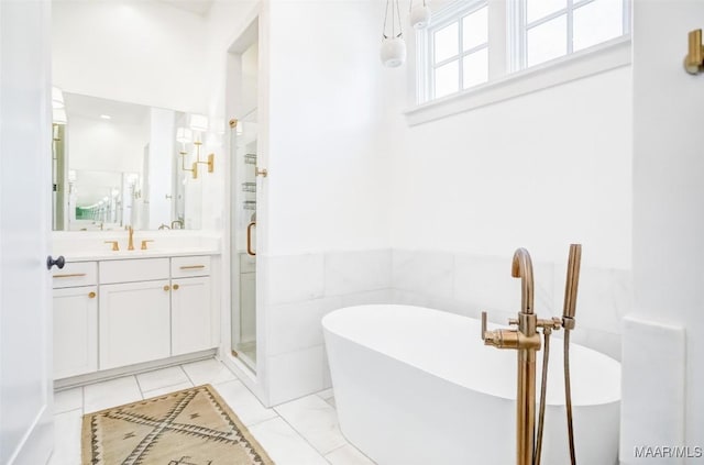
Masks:
[[[96,262],[52,272],[55,379],[98,369],[97,280]]]

